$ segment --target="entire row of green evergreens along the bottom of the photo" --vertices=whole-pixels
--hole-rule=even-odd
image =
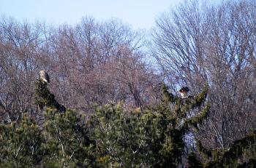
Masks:
[[[38,80],[34,103],[43,109],[44,122],[38,126],[24,115],[20,123],[0,125],[0,167],[181,166],[184,135],[199,129],[208,114],[208,85],[184,99],[164,84],[162,89],[162,103],[154,108],[141,111],[110,104],[85,119],[60,105],[47,83]],[[195,115],[189,118],[188,111]],[[189,167],[254,167],[255,140],[254,132],[223,150],[204,148],[198,140],[197,149],[208,162],[189,153]]]

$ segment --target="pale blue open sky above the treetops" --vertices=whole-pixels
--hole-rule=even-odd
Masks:
[[[182,0],[0,0],[0,15],[16,20],[75,24],[82,17],[121,18],[132,28],[151,28],[154,20]]]

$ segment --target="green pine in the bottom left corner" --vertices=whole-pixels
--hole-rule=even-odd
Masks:
[[[0,132],[0,167],[32,167],[40,163],[42,134],[27,116],[20,124],[1,124]]]

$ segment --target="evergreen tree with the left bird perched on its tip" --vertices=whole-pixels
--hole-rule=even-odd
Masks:
[[[35,104],[44,109],[42,134],[45,167],[94,167],[93,142],[83,116],[66,109],[50,93],[47,82],[35,84]]]

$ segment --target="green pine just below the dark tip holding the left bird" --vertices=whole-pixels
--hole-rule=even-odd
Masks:
[[[58,113],[45,111],[44,136],[46,140],[44,165],[46,167],[92,167],[93,144],[84,121],[74,111]]]

